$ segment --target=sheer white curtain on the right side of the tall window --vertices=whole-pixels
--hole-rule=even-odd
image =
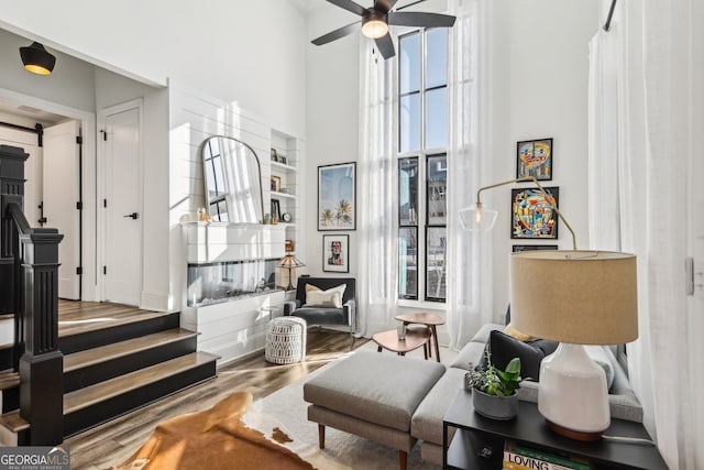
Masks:
[[[492,320],[492,243],[488,233],[462,230],[458,210],[471,206],[488,184],[487,57],[483,40],[486,3],[450,1],[448,102],[447,323],[452,348],[462,348]]]

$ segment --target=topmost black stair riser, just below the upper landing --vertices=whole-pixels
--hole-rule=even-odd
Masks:
[[[89,331],[80,335],[61,337],[58,349],[64,354],[70,354],[86,349],[98,348],[127,339],[139,338],[167,329],[178,328],[180,314],[164,315],[157,318],[150,318],[128,325],[120,325],[112,328]]]

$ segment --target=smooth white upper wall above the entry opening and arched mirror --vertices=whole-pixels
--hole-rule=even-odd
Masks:
[[[1,8],[0,25],[45,46],[154,84],[178,79],[305,135],[307,37],[294,2],[37,0]]]

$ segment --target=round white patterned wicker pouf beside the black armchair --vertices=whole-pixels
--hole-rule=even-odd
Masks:
[[[306,357],[306,320],[277,317],[266,326],[264,357],[273,364],[293,364]]]

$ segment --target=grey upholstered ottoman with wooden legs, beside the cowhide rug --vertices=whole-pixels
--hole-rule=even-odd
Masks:
[[[398,449],[400,469],[416,444],[410,422],[416,408],[444,373],[431,361],[360,351],[304,384],[308,419]]]

